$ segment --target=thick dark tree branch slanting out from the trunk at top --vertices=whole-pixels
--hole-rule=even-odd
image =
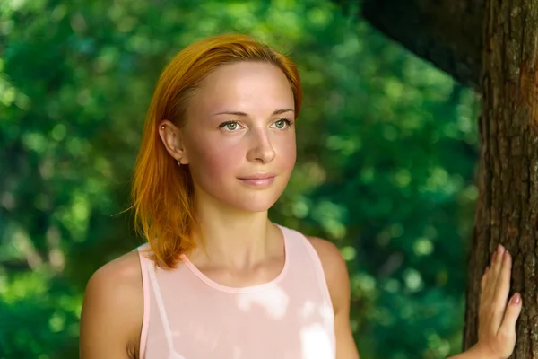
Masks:
[[[477,89],[484,1],[363,0],[361,8],[363,17],[377,30]]]

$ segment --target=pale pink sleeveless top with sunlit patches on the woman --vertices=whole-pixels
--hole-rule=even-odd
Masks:
[[[138,250],[143,277],[140,357],[334,359],[334,311],[317,252],[281,228],[282,272],[263,285],[219,285],[185,256],[171,270]]]

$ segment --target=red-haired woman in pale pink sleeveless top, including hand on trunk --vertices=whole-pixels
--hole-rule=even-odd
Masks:
[[[247,36],[203,39],[170,62],[134,170],[148,243],[91,276],[82,358],[359,357],[339,250],[267,218],[295,163],[301,98],[291,59]],[[514,347],[521,302],[507,303],[510,257],[496,253],[480,341],[461,359]]]

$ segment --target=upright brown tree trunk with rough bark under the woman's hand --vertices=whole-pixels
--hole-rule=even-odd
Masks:
[[[538,358],[538,2],[487,0],[482,51],[480,196],[474,225],[464,348],[477,341],[480,282],[502,243],[520,292],[512,358]]]

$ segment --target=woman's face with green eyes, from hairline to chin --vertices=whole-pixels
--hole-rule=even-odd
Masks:
[[[277,66],[240,62],[207,76],[180,129],[196,201],[247,212],[273,206],[295,164],[294,109]]]

